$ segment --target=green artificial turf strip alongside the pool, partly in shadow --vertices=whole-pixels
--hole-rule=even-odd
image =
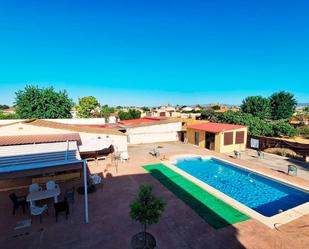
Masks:
[[[215,229],[250,219],[249,216],[161,163],[145,165],[143,168]]]

